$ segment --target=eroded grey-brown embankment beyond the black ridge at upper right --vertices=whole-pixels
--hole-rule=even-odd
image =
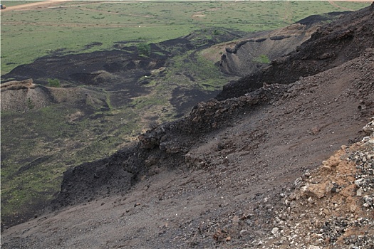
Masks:
[[[343,12],[314,15],[304,18],[285,28],[275,31],[254,33],[246,39],[232,43],[222,55],[219,68],[224,73],[249,75],[269,65],[283,55],[295,51],[304,41],[311,38],[323,23],[336,20]]]

